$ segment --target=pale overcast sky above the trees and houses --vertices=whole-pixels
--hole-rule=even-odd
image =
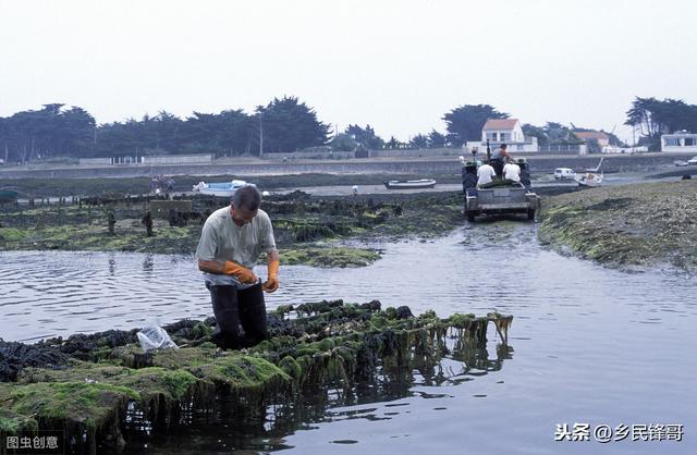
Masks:
[[[0,0],[0,115],[98,123],[297,96],[406,140],[463,104],[616,131],[635,96],[697,103],[688,0]]]

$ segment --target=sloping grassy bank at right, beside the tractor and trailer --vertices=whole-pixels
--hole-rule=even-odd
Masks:
[[[697,182],[609,186],[543,200],[540,239],[610,267],[697,270]]]

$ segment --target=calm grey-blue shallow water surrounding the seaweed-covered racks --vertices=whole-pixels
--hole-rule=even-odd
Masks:
[[[697,279],[625,273],[541,248],[536,226],[501,221],[428,242],[376,244],[360,269],[282,267],[269,308],[319,299],[380,299],[435,309],[513,313],[514,351],[500,369],[445,360],[450,381],[415,372],[398,393],[321,408],[256,429],[194,425],[138,453],[695,453]],[[36,340],[210,315],[191,257],[0,253],[0,336]],[[258,270],[265,275],[264,268]],[[489,358],[496,359],[490,332]],[[466,370],[466,371],[465,371]],[[558,423],[684,425],[682,442],[554,442]],[[234,426],[233,426],[234,427]],[[235,452],[232,452],[235,453]]]

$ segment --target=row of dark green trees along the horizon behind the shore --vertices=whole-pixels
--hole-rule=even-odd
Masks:
[[[97,124],[80,107],[44,104],[39,110],[0,116],[0,158],[27,162],[52,157],[117,157],[123,155],[216,153],[217,156],[292,153],[320,147],[327,150],[428,149],[461,147],[479,140],[488,119],[508,119],[509,113],[489,104],[464,104],[443,114],[445,132],[417,133],[407,142],[394,136],[384,139],[371,125],[350,124],[343,132],[332,131],[317,113],[296,97],[274,98],[253,113],[242,109],[220,113],[193,112],[186,119],[161,111],[140,120]],[[660,148],[660,135],[676,130],[697,132],[697,106],[682,100],[637,97],[627,111],[627,125],[641,135],[640,144]],[[580,144],[574,132],[590,131],[557,122],[542,126],[524,124],[526,136],[538,144]],[[607,133],[611,144],[621,145]]]

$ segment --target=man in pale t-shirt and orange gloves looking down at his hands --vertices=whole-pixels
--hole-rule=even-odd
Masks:
[[[279,251],[271,220],[260,204],[256,187],[237,189],[229,207],[208,217],[196,249],[216,316],[212,340],[223,349],[254,346],[267,336],[261,291],[279,288]],[[261,253],[267,255],[269,271],[264,283],[253,271]]]

